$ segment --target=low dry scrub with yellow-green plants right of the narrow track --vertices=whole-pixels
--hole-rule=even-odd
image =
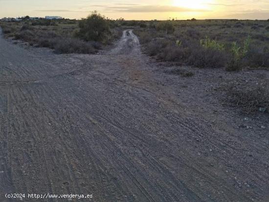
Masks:
[[[194,67],[269,68],[269,21],[151,21],[137,28],[143,50],[158,61]]]

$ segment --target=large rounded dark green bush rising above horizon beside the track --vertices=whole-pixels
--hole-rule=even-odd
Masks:
[[[90,16],[79,22],[78,36],[85,41],[96,41],[106,44],[111,31],[109,22],[104,16],[93,11]]]

